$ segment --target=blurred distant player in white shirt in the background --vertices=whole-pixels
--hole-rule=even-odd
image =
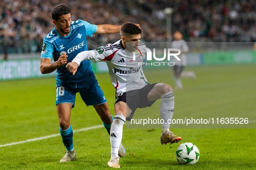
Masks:
[[[181,78],[191,78],[191,79],[196,79],[195,73],[193,71],[183,71],[184,67],[187,66],[187,58],[186,58],[186,53],[188,53],[189,49],[188,49],[188,44],[186,43],[186,41],[184,41],[182,39],[182,34],[180,31],[175,31],[175,33],[173,34],[173,37],[175,39],[175,41],[172,41],[172,48],[176,48],[181,50],[181,54],[179,54],[179,59],[181,59],[180,61],[177,60],[176,58],[174,58],[174,67],[173,67],[173,71],[174,71],[174,76],[173,79],[176,83],[176,89],[177,90],[181,90],[183,89],[183,85],[181,83]]]

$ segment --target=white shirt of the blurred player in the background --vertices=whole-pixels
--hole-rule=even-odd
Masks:
[[[181,53],[187,53],[189,51],[188,44],[183,39],[179,41],[172,41],[171,48],[179,49],[181,50]],[[181,59],[180,61],[174,58],[172,62],[174,62],[176,66],[187,66],[186,54],[180,54],[178,57]]]

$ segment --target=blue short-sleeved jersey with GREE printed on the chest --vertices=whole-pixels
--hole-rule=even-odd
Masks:
[[[69,63],[78,53],[87,50],[86,36],[92,37],[96,31],[97,25],[91,25],[80,19],[71,22],[70,33],[66,37],[59,35],[54,28],[43,40],[41,58],[51,59],[53,57],[54,61],[58,61],[58,58],[65,53],[65,55],[68,55],[67,63]],[[78,67],[75,76],[68,71],[66,64],[59,67],[56,80],[74,84],[91,82],[94,77],[90,61],[85,60]]]

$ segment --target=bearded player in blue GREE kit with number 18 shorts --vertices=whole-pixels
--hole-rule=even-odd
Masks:
[[[110,114],[107,100],[98,85],[90,61],[83,61],[75,76],[66,69],[66,64],[78,53],[87,50],[86,36],[117,33],[120,32],[120,26],[91,25],[80,19],[71,21],[71,11],[64,4],[52,9],[52,19],[55,28],[43,40],[40,69],[43,74],[57,69],[56,107],[59,130],[67,150],[60,162],[69,162],[76,159],[73,131],[70,126],[71,108],[75,107],[76,93],[81,94],[87,106],[94,106],[109,134],[113,116]],[[50,63],[52,57],[55,62]],[[123,157],[125,149],[123,145],[120,145],[120,148],[119,153]]]

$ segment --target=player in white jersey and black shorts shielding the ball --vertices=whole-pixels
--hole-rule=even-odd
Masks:
[[[109,167],[120,168],[118,149],[122,141],[123,125],[131,120],[137,108],[150,107],[156,100],[161,100],[160,116],[164,120],[160,142],[162,144],[180,142],[181,137],[169,130],[168,120],[172,120],[174,111],[174,94],[172,87],[165,83],[149,84],[144,76],[142,62],[145,58],[145,44],[139,41],[142,29],[131,22],[126,22],[120,28],[122,39],[114,44],[99,47],[96,50],[79,53],[67,69],[75,75],[83,60],[93,63],[107,63],[110,79],[116,91],[115,116],[110,129],[111,158]],[[131,45],[127,45],[129,43]],[[135,60],[133,60],[133,52]]]

